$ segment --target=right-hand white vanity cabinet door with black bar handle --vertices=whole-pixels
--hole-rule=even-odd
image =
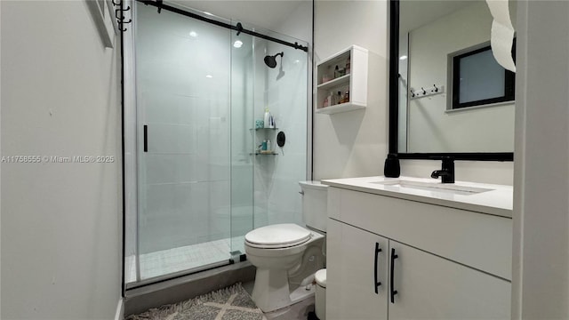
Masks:
[[[393,240],[389,260],[393,250],[397,294],[389,320],[510,318],[509,281]]]

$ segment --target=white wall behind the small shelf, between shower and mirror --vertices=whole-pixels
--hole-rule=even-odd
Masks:
[[[388,4],[316,2],[315,63],[357,44],[369,50],[369,78],[367,108],[314,116],[315,180],[383,174],[388,149]]]

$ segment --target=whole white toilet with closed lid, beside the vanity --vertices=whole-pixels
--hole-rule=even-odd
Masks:
[[[264,312],[313,295],[314,274],[324,268],[327,186],[319,181],[299,184],[306,228],[284,223],[256,228],[245,235],[247,260],[257,267],[252,300]]]

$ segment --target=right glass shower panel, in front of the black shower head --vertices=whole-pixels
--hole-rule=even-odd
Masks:
[[[245,28],[308,45],[276,32]],[[244,253],[244,235],[253,228],[303,225],[298,182],[307,179],[309,56],[243,33],[234,33],[231,42],[231,248],[235,256]],[[276,66],[266,64],[266,57],[280,53]],[[256,127],[257,121],[264,120],[265,108],[274,116],[276,127]],[[276,143],[279,132],[285,137],[282,147]],[[270,147],[261,152],[263,141]]]

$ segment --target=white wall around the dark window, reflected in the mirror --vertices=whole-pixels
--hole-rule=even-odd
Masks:
[[[514,103],[446,112],[448,55],[489,42],[491,26],[488,5],[478,2],[410,31],[409,88],[437,84],[445,92],[409,101],[407,152],[513,151]]]

